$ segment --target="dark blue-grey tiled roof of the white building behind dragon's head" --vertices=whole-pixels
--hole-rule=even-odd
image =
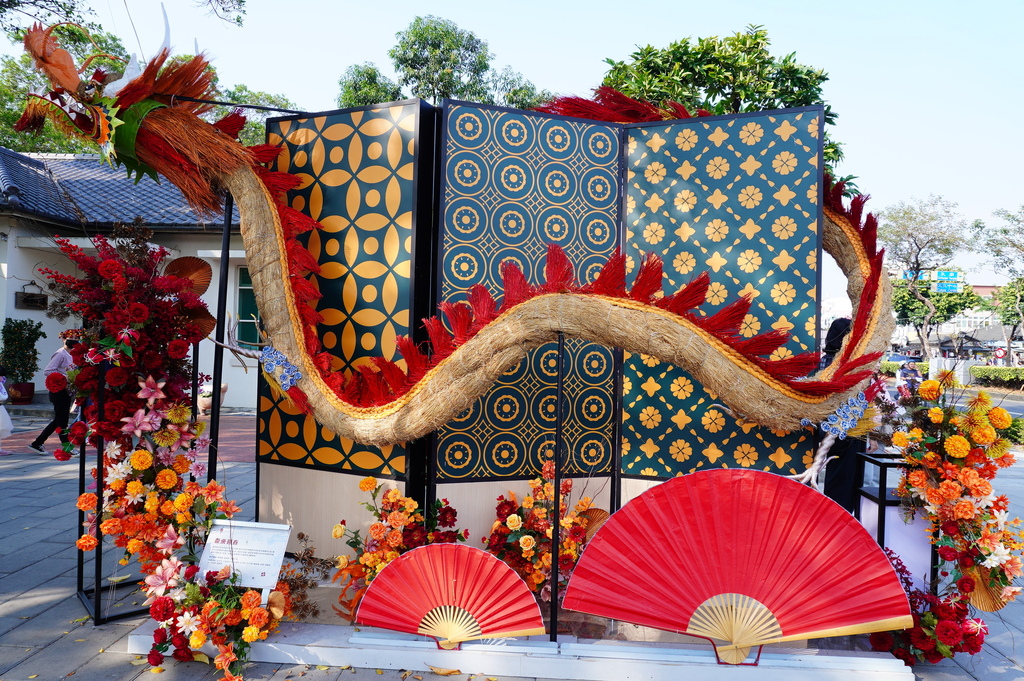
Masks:
[[[145,177],[134,183],[123,168],[112,168],[98,154],[23,155],[0,147],[0,199],[15,210],[79,224],[100,226],[136,217],[158,229],[209,224],[166,179],[158,183]]]

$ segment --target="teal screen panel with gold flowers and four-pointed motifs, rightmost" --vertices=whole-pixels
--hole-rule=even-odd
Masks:
[[[631,271],[656,253],[667,292],[708,271],[701,313],[753,296],[742,336],[790,331],[773,358],[816,349],[821,127],[820,108],[628,126]],[[791,473],[810,461],[812,431],[744,423],[686,372],[652,357],[627,354],[623,387],[623,474]]]

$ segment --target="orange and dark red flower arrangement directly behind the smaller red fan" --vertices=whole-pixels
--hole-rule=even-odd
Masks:
[[[446,499],[435,500],[425,514],[415,499],[402,497],[394,487],[385,488],[373,476],[359,481],[359,491],[370,494],[370,501],[362,506],[375,519],[367,537],[349,528],[344,520],[331,531],[334,539],[345,540],[355,551],[354,557],[338,556],[338,571],[331,580],[341,584],[341,607],[334,606],[334,610],[348,622],[355,619],[367,587],[392,560],[420,546],[455,544],[469,537],[468,529],[456,529],[459,514]]]

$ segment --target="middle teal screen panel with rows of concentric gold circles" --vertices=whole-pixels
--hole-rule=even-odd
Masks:
[[[501,292],[501,264],[543,281],[558,244],[584,281],[618,247],[622,127],[449,102],[442,124],[440,298],[481,284]],[[611,471],[613,352],[565,344],[568,475]],[[557,349],[529,353],[436,433],[437,481],[537,475],[555,436]]]

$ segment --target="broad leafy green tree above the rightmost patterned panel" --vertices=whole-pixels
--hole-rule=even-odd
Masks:
[[[678,101],[716,115],[824,104],[825,123],[834,125],[837,115],[821,92],[828,74],[798,63],[795,52],[774,57],[770,46],[768,31],[753,25],[725,38],[684,38],[664,49],[647,45],[629,61],[605,59],[610,69],[602,84],[637,99]],[[841,145],[826,135],[825,162],[842,160]]]

